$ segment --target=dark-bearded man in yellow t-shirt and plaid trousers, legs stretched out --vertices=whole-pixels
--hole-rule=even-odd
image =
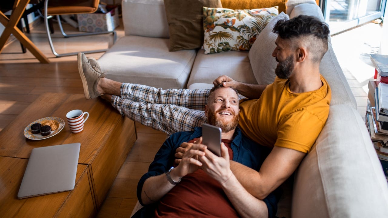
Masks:
[[[230,169],[258,199],[279,187],[310,151],[326,122],[331,99],[329,84],[319,72],[328,48],[328,26],[315,17],[300,15],[278,21],[273,32],[278,37],[272,56],[279,62],[274,83],[252,85],[228,76],[213,82],[254,99],[241,102],[239,126],[244,135],[272,151],[260,171],[233,161]],[[87,99],[102,96],[121,114],[144,125],[172,134],[191,131],[206,122],[204,106],[209,90],[162,90],[109,80],[94,58],[81,53],[78,69]],[[176,157],[182,157],[191,145],[182,144]]]

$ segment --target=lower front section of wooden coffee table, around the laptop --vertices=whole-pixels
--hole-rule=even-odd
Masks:
[[[1,157],[0,188],[1,217],[91,217],[95,201],[90,186],[90,172],[78,164],[74,189],[38,197],[17,199],[28,159]]]

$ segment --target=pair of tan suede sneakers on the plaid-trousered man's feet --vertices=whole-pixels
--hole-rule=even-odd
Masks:
[[[94,99],[102,95],[97,91],[97,83],[100,78],[105,77],[105,74],[101,73],[97,61],[94,58],[88,59],[83,53],[78,53],[77,62],[85,98]]]

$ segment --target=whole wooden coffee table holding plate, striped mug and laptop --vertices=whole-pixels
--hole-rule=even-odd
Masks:
[[[66,113],[73,109],[89,112],[89,118],[85,122],[84,130],[80,133],[71,133],[66,123]],[[40,118],[51,116],[62,118],[65,121],[65,126],[59,133],[43,140],[30,140],[24,137],[23,130],[29,123]],[[84,95],[79,94],[44,93],[0,132],[0,157],[9,157],[6,159],[2,158],[0,161],[7,162],[6,160],[9,160],[12,162],[19,159],[28,159],[31,150],[36,147],[80,142],[81,148],[78,159],[77,176],[79,173],[80,178],[82,177],[81,175],[87,175],[91,190],[90,194],[92,195],[94,204],[93,210],[89,211],[90,216],[92,216],[95,211],[99,209],[102,201],[104,201],[109,188],[116,178],[117,173],[124,163],[136,138],[134,122],[121,116],[109,102],[100,98],[86,100]],[[26,162],[24,164],[26,164]],[[23,165],[23,167],[18,166],[19,168],[14,173],[15,178],[12,182],[14,185],[15,183],[17,184],[17,189],[13,188],[11,190],[8,186],[0,186],[0,214],[2,214],[1,211],[3,211],[3,209],[14,209],[14,214],[17,213],[17,205],[10,207],[9,204],[2,203],[10,197],[14,199],[14,201],[12,201],[14,202],[13,204],[23,205],[25,204],[25,201],[34,201],[37,204],[47,204],[40,205],[42,208],[55,210],[55,207],[48,207],[49,201],[38,201],[36,199],[50,199],[51,196],[54,197],[54,195],[61,193],[21,200],[17,199],[17,192],[19,190],[21,178],[23,178],[25,166],[26,165]],[[85,170],[81,169],[83,166],[86,167]],[[78,172],[80,170],[82,172]],[[0,172],[6,171],[7,169],[5,169],[5,166],[0,164]],[[0,176],[3,178],[1,174]],[[77,179],[76,184],[77,182],[80,182],[80,180]],[[78,186],[76,186],[76,188],[77,187]],[[75,197],[72,196],[73,194],[69,194],[73,192],[81,193],[76,188],[72,191],[63,193],[68,195],[68,197],[73,197],[73,199],[88,198],[86,192],[82,192],[82,195]],[[82,189],[85,188],[83,187]],[[3,196],[4,193],[5,196]],[[65,197],[65,199],[68,200],[68,197]],[[57,201],[57,204],[62,205],[63,203],[64,202]],[[77,204],[74,204],[73,206],[80,207],[80,205]],[[36,208],[31,208],[32,211],[36,212],[35,209]],[[38,214],[39,213],[37,213],[37,215]],[[69,214],[67,215],[70,216]],[[32,216],[33,215],[30,217]]]

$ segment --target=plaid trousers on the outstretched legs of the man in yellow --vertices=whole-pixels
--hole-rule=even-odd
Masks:
[[[191,131],[206,122],[205,105],[210,89],[166,89],[123,83],[112,106],[121,115],[169,135]]]

